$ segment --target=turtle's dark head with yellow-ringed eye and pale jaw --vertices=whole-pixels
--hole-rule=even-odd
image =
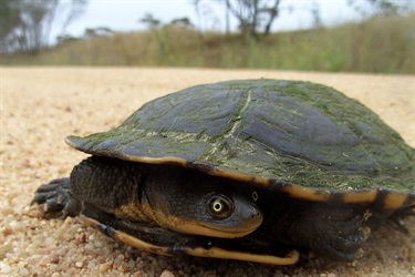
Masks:
[[[262,223],[257,192],[230,179],[175,168],[147,178],[142,203],[158,225],[191,235],[234,238]]]

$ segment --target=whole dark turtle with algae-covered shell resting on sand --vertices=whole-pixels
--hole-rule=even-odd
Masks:
[[[322,84],[196,85],[65,142],[89,156],[32,203],[160,255],[352,261],[372,230],[407,232],[415,214],[415,150]]]

